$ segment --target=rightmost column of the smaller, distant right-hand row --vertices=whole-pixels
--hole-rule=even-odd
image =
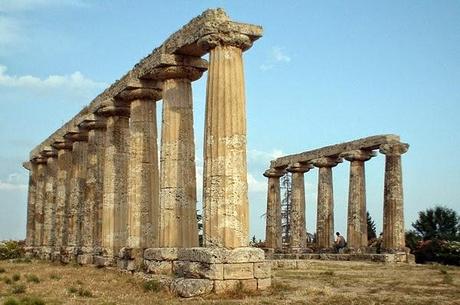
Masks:
[[[385,155],[385,188],[383,195],[383,248],[404,250],[404,196],[402,184],[401,155],[406,153],[406,143],[380,146]]]

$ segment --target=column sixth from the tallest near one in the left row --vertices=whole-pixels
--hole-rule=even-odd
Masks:
[[[85,201],[88,132],[75,129],[67,132],[64,138],[72,142],[67,248],[73,254],[78,254],[76,250],[81,246],[82,209]]]

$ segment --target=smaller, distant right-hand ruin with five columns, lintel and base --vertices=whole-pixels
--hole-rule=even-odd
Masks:
[[[316,244],[319,253],[331,253],[334,244],[334,202],[332,169],[343,159],[350,164],[347,218],[347,250],[357,259],[365,259],[368,252],[366,217],[365,162],[376,156],[375,150],[385,155],[385,186],[383,194],[382,252],[392,256],[369,256],[373,260],[407,260],[404,241],[404,205],[401,155],[409,145],[399,136],[379,135],[338,145],[327,146],[273,160],[264,176],[268,178],[266,247],[274,258],[322,258],[306,245],[304,174],[318,168]],[[281,240],[280,177],[292,173],[290,232],[287,245]],[[323,258],[334,256],[323,256]],[[336,257],[336,259],[353,257]]]

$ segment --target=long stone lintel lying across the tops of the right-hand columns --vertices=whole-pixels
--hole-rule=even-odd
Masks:
[[[309,162],[321,157],[339,157],[339,155],[345,151],[356,149],[374,150],[379,149],[382,144],[386,143],[399,143],[399,136],[392,134],[376,135],[341,144],[329,145],[299,154],[280,157],[273,160],[270,166],[278,168],[285,167],[296,162]]]

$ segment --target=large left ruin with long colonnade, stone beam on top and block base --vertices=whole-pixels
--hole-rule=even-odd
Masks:
[[[182,296],[269,287],[264,252],[248,247],[243,52],[261,36],[207,10],[34,148],[24,163],[29,252],[162,275]],[[192,82],[205,71],[198,247]]]

